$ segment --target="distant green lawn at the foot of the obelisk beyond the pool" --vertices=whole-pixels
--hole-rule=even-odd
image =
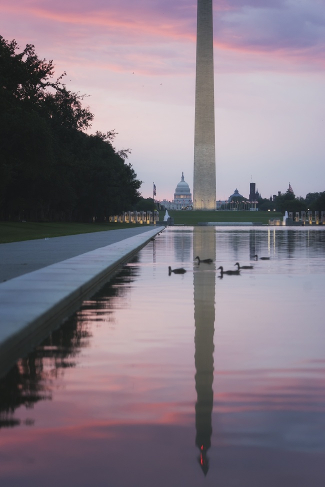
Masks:
[[[174,218],[175,225],[197,225],[199,221],[233,221],[233,222],[259,222],[268,224],[270,218],[283,218],[277,211],[173,211],[168,210],[169,216]],[[159,211],[159,219],[163,220],[165,210]]]

